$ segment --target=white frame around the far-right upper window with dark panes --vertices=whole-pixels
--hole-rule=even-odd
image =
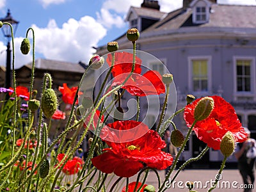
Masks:
[[[250,92],[238,92],[237,91],[237,60],[250,60],[251,63],[251,69],[250,69],[250,76],[251,76],[251,90]],[[253,100],[256,100],[256,90],[255,90],[255,57],[252,56],[234,56],[233,57],[233,90],[234,90],[234,100],[237,100],[238,97],[253,97]]]

